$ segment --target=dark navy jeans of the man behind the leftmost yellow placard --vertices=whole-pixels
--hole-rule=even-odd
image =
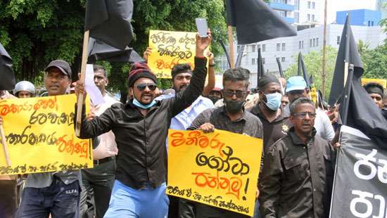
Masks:
[[[46,188],[25,188],[17,217],[42,218],[61,217],[77,218],[80,203],[80,184],[74,181],[64,184],[61,179],[54,179]]]

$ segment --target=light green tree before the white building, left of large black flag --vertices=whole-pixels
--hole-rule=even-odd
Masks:
[[[294,56],[297,60],[298,56]],[[326,46],[326,87],[325,99],[328,100],[331,91],[332,77],[334,76],[334,68],[337,57],[337,49],[332,46]],[[319,51],[310,51],[304,56],[304,63],[307,69],[307,74],[313,75],[316,89],[322,89],[322,49]],[[298,72],[298,63],[295,61],[285,72],[285,77],[296,76]]]

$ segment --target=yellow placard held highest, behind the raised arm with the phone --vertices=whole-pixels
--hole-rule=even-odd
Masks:
[[[194,69],[196,32],[151,30],[148,66],[158,78],[172,78],[171,70],[179,63],[189,63]],[[207,50],[206,50],[207,51]]]

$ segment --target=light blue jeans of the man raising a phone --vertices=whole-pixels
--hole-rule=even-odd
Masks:
[[[165,218],[170,200],[165,194],[166,185],[137,190],[115,180],[105,218]]]

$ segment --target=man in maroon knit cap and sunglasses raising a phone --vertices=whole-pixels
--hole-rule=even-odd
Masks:
[[[86,120],[82,111],[80,138],[88,139],[112,130],[118,145],[116,180],[106,218],[167,216],[165,139],[172,117],[194,103],[203,91],[207,72],[203,52],[210,41],[210,32],[205,38],[196,34],[192,79],[175,97],[156,101],[156,76],[146,63],[135,63],[128,78],[131,100],[125,105],[112,105],[92,120]],[[75,93],[80,92],[84,92],[84,86],[78,81]]]

